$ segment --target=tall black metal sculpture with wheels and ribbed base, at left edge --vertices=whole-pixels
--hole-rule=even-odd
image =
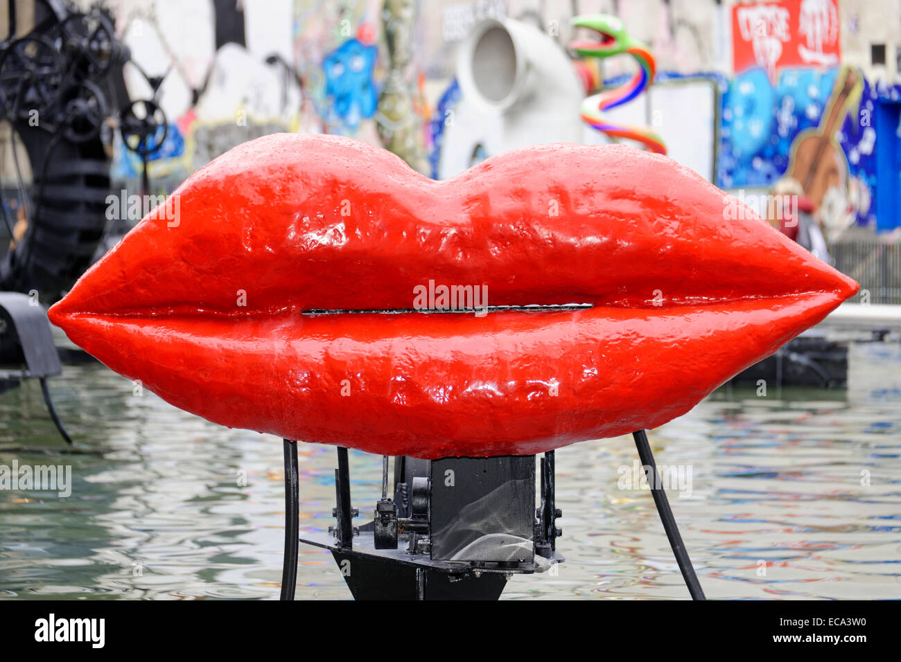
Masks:
[[[16,37],[11,25],[0,42],[0,119],[11,126],[16,173],[15,203],[0,192],[12,240],[0,288],[36,291],[50,304],[90,264],[105,229],[110,159],[101,133],[109,99],[124,90],[114,75],[121,78],[127,51],[100,10],[81,14],[40,0],[34,14],[30,32]]]

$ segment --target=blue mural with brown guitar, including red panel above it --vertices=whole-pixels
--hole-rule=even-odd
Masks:
[[[853,22],[846,28],[856,30]],[[876,116],[899,90],[842,67],[838,0],[733,5],[732,30],[716,184],[769,187],[789,177],[833,237],[851,224],[877,225],[877,186],[898,181],[878,172],[877,139],[896,150],[897,131],[878,136]],[[885,229],[897,224],[882,212]]]

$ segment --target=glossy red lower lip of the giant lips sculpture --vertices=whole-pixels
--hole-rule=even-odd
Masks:
[[[839,301],[760,300],[728,315],[702,306],[203,323],[79,316],[66,330],[117,372],[140,374],[212,421],[442,458],[537,453],[656,427]],[[160,338],[152,369],[135,372],[123,345]]]

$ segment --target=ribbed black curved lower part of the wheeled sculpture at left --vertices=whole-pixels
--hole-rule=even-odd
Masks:
[[[80,143],[64,135],[54,139],[28,122],[13,122],[13,129],[32,163],[32,216],[23,239],[0,262],[0,289],[37,290],[41,304],[52,304],[91,264],[103,238],[110,159],[99,137]]]

